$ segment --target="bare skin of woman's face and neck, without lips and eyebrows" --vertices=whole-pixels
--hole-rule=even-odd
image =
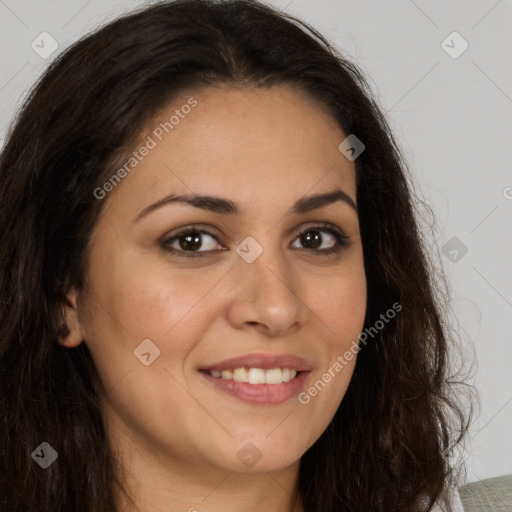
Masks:
[[[302,511],[300,457],[334,416],[355,358],[306,405],[296,397],[248,404],[198,369],[248,353],[293,354],[313,367],[307,390],[357,340],[366,279],[356,211],[337,201],[287,213],[302,196],[336,188],[355,203],[355,165],[338,150],[346,135],[326,108],[291,86],[182,94],[141,141],[191,96],[197,106],[103,199],[85,290],[69,290],[63,306],[71,333],[62,343],[85,342],[92,353],[108,432],[140,511]],[[170,193],[221,196],[243,212],[174,203],[134,222]],[[336,245],[323,228],[314,230],[321,246],[301,242],[302,228],[322,222],[350,245],[322,255]],[[160,246],[191,224],[215,235],[202,235],[205,256]],[[252,263],[235,251],[247,236],[263,248]],[[170,244],[183,254],[179,241]],[[149,366],[134,356],[144,339],[161,351]],[[249,441],[261,454],[252,467],[237,457]],[[119,511],[136,510],[118,500]]]

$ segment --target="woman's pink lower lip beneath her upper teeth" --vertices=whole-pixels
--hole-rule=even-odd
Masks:
[[[249,384],[235,380],[212,377],[208,373],[199,372],[217,389],[252,404],[281,404],[297,396],[303,389],[310,372],[300,372],[296,377],[281,384]]]

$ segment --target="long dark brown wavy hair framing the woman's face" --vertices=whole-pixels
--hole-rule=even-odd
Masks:
[[[122,479],[101,382],[85,343],[59,343],[62,303],[70,287],[84,286],[105,203],[93,191],[177,94],[216,84],[294,85],[363,141],[355,167],[364,328],[402,305],[362,348],[336,415],[301,458],[306,512],[430,510],[455,481],[443,452],[463,439],[471,407],[450,375],[446,278],[367,79],[315,29],[276,9],[176,0],[123,15],[67,48],[9,130],[0,158],[0,509],[115,510]],[[58,452],[46,471],[31,457],[42,441]]]

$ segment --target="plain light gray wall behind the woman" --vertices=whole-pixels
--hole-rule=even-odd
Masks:
[[[0,0],[0,139],[59,52],[149,3]],[[512,1],[267,3],[311,23],[366,73],[436,215],[427,237],[440,251],[453,237],[467,247],[462,258],[452,253],[456,262],[442,256],[482,404],[467,480],[512,473]],[[46,59],[31,48],[43,31],[59,44]],[[469,44],[457,58],[443,46],[454,52],[460,41],[442,46],[453,31]]]

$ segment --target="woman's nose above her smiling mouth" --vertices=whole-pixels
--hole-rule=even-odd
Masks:
[[[303,308],[300,282],[280,251],[264,247],[251,263],[237,261],[228,308],[235,328],[249,327],[267,336],[283,336],[298,328]]]

